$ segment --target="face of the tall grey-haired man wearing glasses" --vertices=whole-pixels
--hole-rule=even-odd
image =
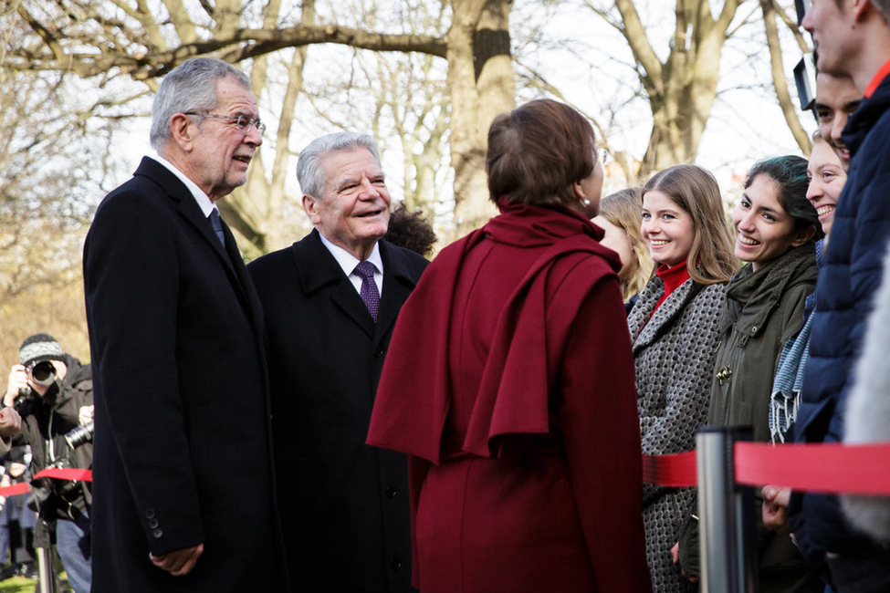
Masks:
[[[258,120],[257,98],[235,78],[220,78],[216,82],[216,107],[211,113]],[[233,120],[194,116],[188,122],[190,171],[183,172],[215,202],[247,182],[247,165],[263,137],[256,126],[238,130]]]

